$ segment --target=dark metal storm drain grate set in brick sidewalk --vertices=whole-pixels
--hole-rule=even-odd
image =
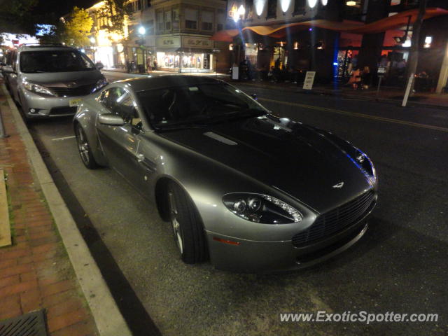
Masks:
[[[0,336],[47,336],[43,310],[0,322]]]

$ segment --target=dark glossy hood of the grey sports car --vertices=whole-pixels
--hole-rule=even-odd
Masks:
[[[283,190],[318,212],[337,207],[370,188],[365,174],[325,134],[289,120],[249,118],[161,134]],[[341,182],[342,188],[334,188]]]

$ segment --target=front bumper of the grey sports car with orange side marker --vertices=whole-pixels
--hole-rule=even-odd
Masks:
[[[290,240],[251,241],[207,232],[211,262],[217,269],[245,273],[310,267],[345,251],[363,237],[368,227],[367,216],[335,235],[301,248],[293,246]]]

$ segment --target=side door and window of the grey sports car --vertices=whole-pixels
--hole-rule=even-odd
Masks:
[[[139,187],[143,178],[138,157],[141,117],[136,109],[137,105],[123,87],[106,90],[101,102],[109,113],[116,114],[125,121],[122,126],[97,125],[99,141],[109,165]]]

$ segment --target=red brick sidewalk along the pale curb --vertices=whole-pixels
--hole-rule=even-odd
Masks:
[[[0,248],[0,321],[45,309],[49,335],[98,335],[2,90],[0,109],[13,235],[13,246]]]

